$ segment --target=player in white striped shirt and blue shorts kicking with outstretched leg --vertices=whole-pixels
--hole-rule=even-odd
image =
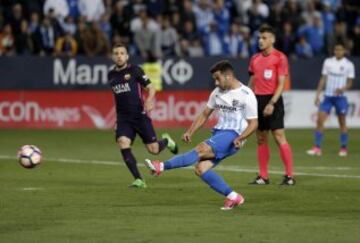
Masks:
[[[213,135],[187,153],[165,162],[145,160],[145,165],[155,175],[160,175],[165,170],[195,165],[195,174],[225,197],[221,209],[230,210],[244,203],[244,198],[233,191],[213,168],[239,151],[245,139],[256,131],[257,101],[251,89],[235,78],[234,69],[228,61],[216,63],[210,72],[217,87],[211,93],[206,107],[182,138],[185,142],[191,142],[192,135],[217,110],[219,121],[213,129]]]

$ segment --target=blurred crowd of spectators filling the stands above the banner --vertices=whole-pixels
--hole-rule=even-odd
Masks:
[[[0,56],[231,56],[257,51],[261,25],[293,58],[360,55],[359,0],[0,0]]]

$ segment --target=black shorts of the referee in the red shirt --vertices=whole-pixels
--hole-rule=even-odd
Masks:
[[[272,95],[256,95],[258,101],[258,130],[276,130],[284,128],[284,102],[282,97],[274,104],[274,112],[271,116],[264,117],[263,111],[265,106],[269,103]]]

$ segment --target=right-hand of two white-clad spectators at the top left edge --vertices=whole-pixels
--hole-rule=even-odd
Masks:
[[[87,22],[99,21],[105,14],[103,0],[79,0],[80,15],[85,17]]]

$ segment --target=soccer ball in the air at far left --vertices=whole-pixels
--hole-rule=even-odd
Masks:
[[[41,163],[41,150],[35,145],[24,145],[20,148],[17,157],[24,168],[34,168]]]

